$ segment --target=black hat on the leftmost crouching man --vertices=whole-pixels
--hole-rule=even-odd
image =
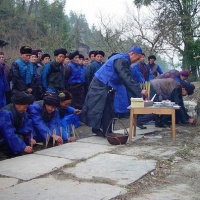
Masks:
[[[11,101],[14,104],[30,105],[34,102],[34,97],[32,94],[27,94],[25,92],[17,91],[11,97]]]

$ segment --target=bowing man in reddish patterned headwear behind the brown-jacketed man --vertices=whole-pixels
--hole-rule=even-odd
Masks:
[[[189,77],[189,75],[190,72],[187,69],[183,69],[180,72],[178,70],[173,69],[157,76],[156,78],[158,79],[173,78],[175,81],[180,83],[181,81],[185,81]]]

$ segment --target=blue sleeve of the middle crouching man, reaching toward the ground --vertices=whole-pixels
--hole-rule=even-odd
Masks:
[[[42,137],[42,140],[46,141],[47,133],[52,135],[52,131],[42,119],[42,108],[37,103],[34,103],[28,107],[27,112],[30,114],[30,118],[32,119],[36,135],[39,134]]]

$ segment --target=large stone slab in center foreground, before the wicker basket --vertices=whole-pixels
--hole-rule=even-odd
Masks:
[[[155,160],[137,160],[132,156],[105,153],[78,163],[74,168],[64,169],[64,172],[81,179],[128,185],[154,170],[155,166]]]

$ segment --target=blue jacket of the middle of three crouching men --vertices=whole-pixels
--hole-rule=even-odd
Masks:
[[[43,116],[45,107],[43,103],[43,100],[36,101],[30,105],[27,110],[33,122],[33,128],[36,134],[35,139],[36,141],[42,142],[46,141],[47,134],[52,136],[53,130],[56,130],[56,135],[60,135],[58,111],[55,110],[52,119],[49,122],[45,122]]]

